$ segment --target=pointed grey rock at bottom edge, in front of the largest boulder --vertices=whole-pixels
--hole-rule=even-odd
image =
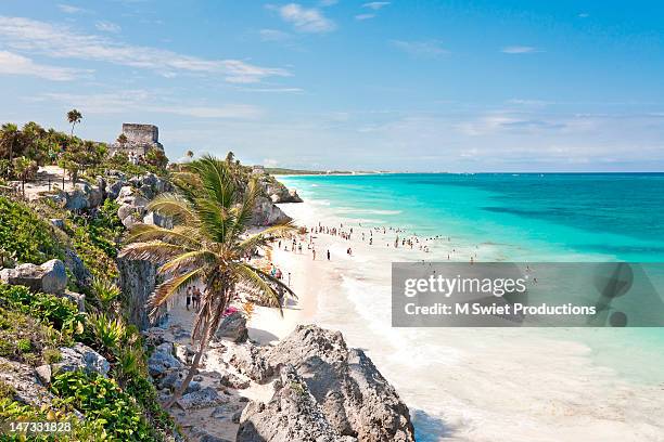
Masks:
[[[250,402],[240,416],[238,442],[350,442],[328,421],[307,384],[293,366],[281,369],[272,399]]]

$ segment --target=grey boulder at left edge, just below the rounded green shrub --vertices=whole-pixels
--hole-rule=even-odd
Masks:
[[[7,284],[24,285],[34,291],[61,295],[67,286],[65,264],[52,259],[41,265],[25,263],[15,269],[0,271],[0,280]]]

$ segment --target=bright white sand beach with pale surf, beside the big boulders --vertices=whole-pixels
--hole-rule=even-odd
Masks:
[[[316,202],[281,207],[299,225],[348,222]],[[444,260],[454,238],[426,253],[395,249],[394,232],[374,233],[369,246],[369,229],[356,223],[343,230],[350,226],[350,240],[314,235],[316,260],[306,244],[302,253],[284,251],[283,244],[273,251],[298,299],[283,317],[256,308],[248,324],[253,339],[270,341],[303,323],[340,329],[397,388],[420,441],[664,441],[664,385],[622,379],[576,339],[616,330],[393,328],[391,262]],[[451,259],[463,261],[477,252],[455,250]]]

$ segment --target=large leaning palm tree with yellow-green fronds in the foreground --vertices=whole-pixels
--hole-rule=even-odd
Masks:
[[[243,261],[257,248],[269,248],[274,237],[295,230],[289,222],[257,234],[245,234],[259,194],[257,182],[251,181],[242,192],[228,165],[210,156],[182,170],[174,176],[179,192],[162,194],[148,207],[171,217],[174,229],[137,224],[129,232],[129,245],[120,252],[122,257],[161,264],[158,273],[165,280],[150,298],[153,315],[159,306],[188,285],[196,282],[205,285],[192,330],[192,343],[197,342],[197,351],[189,374],[166,407],[173,406],[187,390],[237,289],[252,290],[279,307],[281,296],[278,292],[294,296],[279,280]]]

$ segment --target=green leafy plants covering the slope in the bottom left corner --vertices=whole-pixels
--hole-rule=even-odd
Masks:
[[[37,366],[60,361],[61,346],[80,340],[111,363],[113,379],[79,372],[56,375],[51,407],[37,410],[13,400],[13,389],[0,384],[0,421],[71,420],[74,431],[55,439],[159,441],[175,424],[157,401],[150,382],[138,329],[122,316],[86,315],[68,300],[0,284],[0,356]],[[76,408],[86,415],[79,421]],[[0,440],[20,440],[7,439]]]

